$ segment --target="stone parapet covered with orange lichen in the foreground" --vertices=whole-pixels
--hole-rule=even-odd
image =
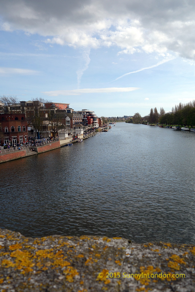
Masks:
[[[194,291],[195,246],[0,229],[0,292]]]

